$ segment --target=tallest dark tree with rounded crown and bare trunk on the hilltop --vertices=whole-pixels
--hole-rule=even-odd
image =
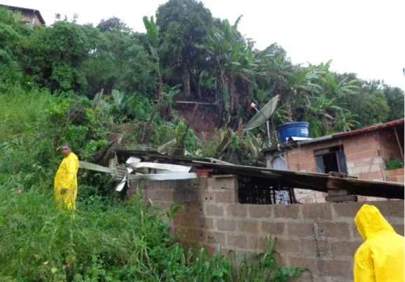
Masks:
[[[184,96],[189,97],[191,65],[200,58],[198,54],[202,51],[197,45],[204,42],[212,27],[211,12],[202,2],[170,0],[159,6],[156,24],[167,43],[166,62],[181,66]]]

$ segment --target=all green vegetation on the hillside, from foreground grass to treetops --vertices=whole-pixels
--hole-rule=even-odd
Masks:
[[[317,137],[404,116],[400,88],[334,73],[331,62],[294,65],[277,43],[257,50],[238,31],[242,17],[214,18],[194,0],[159,6],[156,20],[143,19],[146,33],[117,17],[96,27],[60,15],[38,27],[19,17],[0,8],[1,280],[287,281],[301,269],[275,264],[274,241],[238,265],[233,253],[184,254],[163,211],[115,199],[102,174],[79,173],[76,220],[55,211],[60,145],[69,142],[80,160],[95,162],[110,134],[123,134],[128,148],[176,139],[185,155],[259,164],[266,125],[231,134],[254,115],[252,101],[260,107],[280,95],[272,141],[283,122],[306,120]],[[214,111],[200,106],[204,114],[187,131],[180,99]],[[203,115],[215,115],[216,128],[198,135]],[[218,153],[224,136],[230,145]]]

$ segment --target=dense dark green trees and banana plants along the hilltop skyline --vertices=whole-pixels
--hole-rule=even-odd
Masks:
[[[334,73],[329,71],[331,62],[291,64],[277,44],[257,50],[254,41],[238,31],[242,17],[234,24],[214,18],[195,0],[159,6],[156,22],[144,18],[146,34],[133,32],[117,17],[97,27],[76,24],[76,17],[32,27],[8,10],[0,14],[3,89],[15,84],[25,90],[46,87],[52,93],[90,99],[102,89],[104,96],[116,89],[148,99],[156,108],[151,125],[156,116],[173,118],[176,99],[165,89],[181,87],[176,97],[216,105],[218,125],[233,130],[254,114],[251,101],[262,106],[280,94],[271,118],[272,141],[277,141],[275,127],[282,122],[308,121],[310,136],[316,137],[404,116],[404,91],[399,87],[360,80],[355,73]],[[263,125],[252,133],[266,136],[265,129]]]

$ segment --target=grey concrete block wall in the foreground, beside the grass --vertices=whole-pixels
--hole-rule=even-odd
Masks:
[[[364,203],[238,204],[236,177],[191,181],[139,181],[144,200],[169,209],[184,206],[172,221],[184,246],[203,244],[210,253],[219,244],[223,253],[263,250],[265,237],[277,237],[276,251],[283,265],[311,269],[314,281],[352,280],[353,256],[362,244],[353,220]],[[404,201],[373,202],[394,230],[404,235]],[[184,236],[184,237],[183,237]],[[296,281],[310,281],[305,274]]]

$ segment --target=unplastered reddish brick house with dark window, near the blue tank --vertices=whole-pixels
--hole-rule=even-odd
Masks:
[[[266,167],[329,174],[331,171],[373,181],[404,182],[404,167],[387,170],[393,159],[404,163],[404,119],[352,132],[289,141],[263,149]],[[295,189],[298,202],[325,202],[327,193]],[[359,201],[385,200],[359,196]]]

